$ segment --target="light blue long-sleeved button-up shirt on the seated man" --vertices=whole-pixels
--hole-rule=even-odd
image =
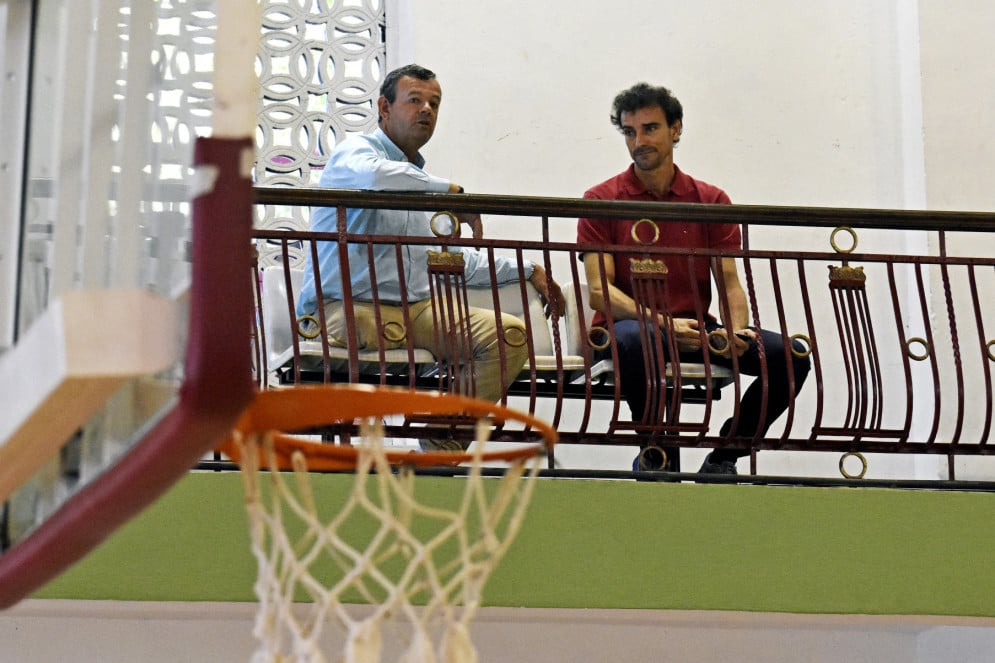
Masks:
[[[365,189],[372,191],[424,191],[446,193],[449,180],[429,175],[422,167],[421,154],[411,163],[404,153],[377,129],[372,134],[350,136],[335,146],[322,171],[320,186],[332,189]],[[409,237],[434,237],[428,212],[406,210],[348,209],[346,228],[349,233],[361,235],[406,235]],[[440,217],[438,225],[445,227]],[[335,232],[337,230],[334,207],[317,207],[311,213],[311,230]],[[438,246],[402,245],[404,282],[408,302],[428,299],[428,251],[438,251]],[[463,253],[466,281],[471,286],[490,286],[490,266],[487,254],[470,248],[451,248]],[[373,264],[377,280],[377,294],[381,300],[401,301],[400,275],[398,274],[395,247],[391,244],[374,244]],[[367,246],[348,245],[349,275],[352,296],[360,301],[372,301],[370,259]],[[318,264],[321,268],[321,292],[325,299],[342,299],[342,275],[339,271],[338,245],[334,242],[318,243]],[[496,256],[495,276],[498,285],[519,278],[517,264],[506,256]],[[533,266],[524,261],[524,276],[532,275]],[[304,285],[297,300],[298,315],[309,315],[317,310],[318,300],[314,287],[314,267],[311,254],[307,255]]]

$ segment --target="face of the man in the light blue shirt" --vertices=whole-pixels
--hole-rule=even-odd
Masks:
[[[387,136],[410,157],[428,142],[435,132],[442,103],[439,81],[423,81],[402,76],[397,81],[394,103],[380,97],[378,110],[383,117],[381,127]]]

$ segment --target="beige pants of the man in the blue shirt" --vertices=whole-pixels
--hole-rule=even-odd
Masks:
[[[431,300],[414,302],[408,307],[410,329],[405,327],[404,313],[400,306],[380,305],[379,328],[376,311],[371,302],[354,302],[353,309],[359,349],[376,349],[381,344],[386,350],[404,348],[407,347],[407,336],[410,334],[416,348],[429,350],[436,357],[457,361],[458,356],[451,356],[452,346],[456,345],[457,355],[472,358],[472,362],[461,363],[467,367],[471,364],[473,366],[472,375],[461,376],[460,391],[489,402],[501,399],[529,356],[528,346],[525,343],[525,324],[513,315],[501,314],[504,339],[502,340],[498,338],[497,316],[494,311],[470,307],[467,311],[470,323],[470,340],[467,347],[462,339],[451,337],[443,337],[440,343]],[[339,346],[345,345],[343,340],[346,338],[346,318],[341,301],[325,303],[325,321],[328,325],[330,342]],[[460,328],[462,326],[460,325]]]

